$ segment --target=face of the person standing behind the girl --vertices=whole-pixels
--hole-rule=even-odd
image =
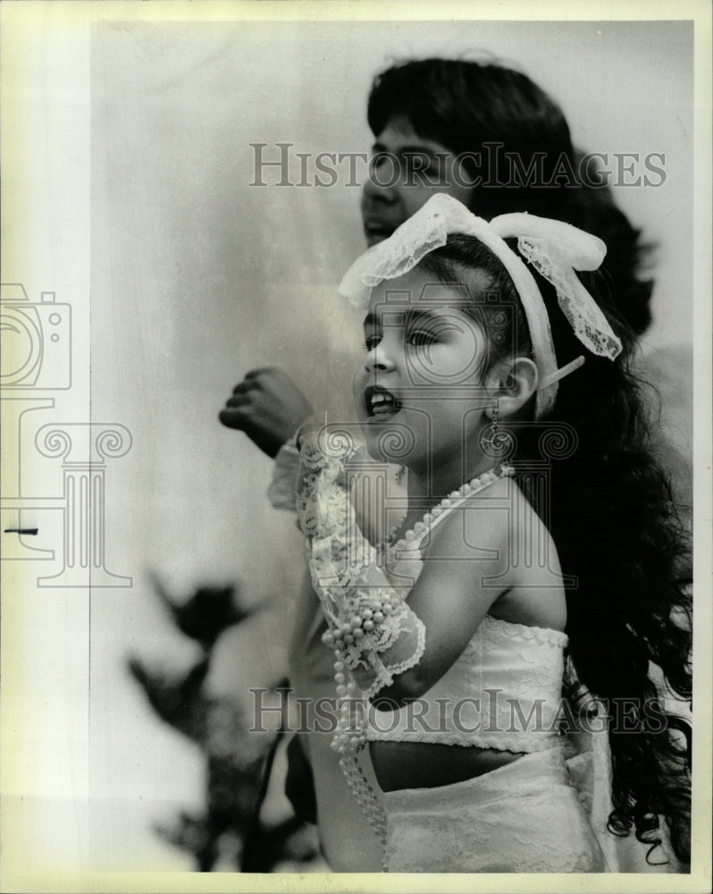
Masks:
[[[403,118],[389,122],[373,145],[371,177],[362,192],[367,244],[387,239],[436,192],[470,207],[469,179],[448,148],[419,137]]]

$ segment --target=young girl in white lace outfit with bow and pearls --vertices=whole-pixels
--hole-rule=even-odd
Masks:
[[[342,283],[368,308],[371,468],[408,469],[406,511],[370,542],[383,526],[350,493],[369,461],[327,426],[300,437],[298,515],[335,650],[333,746],[390,872],[616,871],[632,827],[689,859],[688,728],[650,679],[652,662],[691,696],[684,534],[633,336],[575,274],[604,251],[441,194]]]

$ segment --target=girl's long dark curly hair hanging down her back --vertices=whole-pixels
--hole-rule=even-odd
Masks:
[[[421,266],[442,283],[467,285],[468,271],[475,269],[490,274],[487,301],[482,292],[472,291],[471,302],[462,308],[491,335],[484,368],[507,357],[514,344],[520,356],[532,350],[513,283],[481,242],[450,236]],[[633,827],[636,837],[651,845],[649,859],[662,841],[663,817],[675,855],[689,863],[691,730],[682,718],[664,711],[651,674],[655,665],[676,696],[691,699],[687,528],[667,474],[650,449],[643,386],[630,367],[636,345],[631,328],[611,299],[602,298],[600,307],[624,348],[616,361],[590,354],[567,324],[549,283],[533,275],[548,308],[558,366],[580,355],[585,362],[560,381],[553,409],[539,420],[542,426],[566,423],[576,433],[574,453],[552,460],[549,492],[538,493],[530,478],[517,472],[526,468],[526,460],[541,459],[542,426],[518,425],[532,421],[533,400],[513,424],[514,464],[549,527],[563,573],[577,578],[567,593],[566,632],[579,679],[608,704],[614,806],[609,829],[625,836]],[[586,284],[593,291],[594,283]],[[493,303],[493,293],[499,302]],[[502,307],[514,310],[499,313]],[[505,330],[503,318],[509,321]],[[499,338],[492,337],[496,332]],[[659,719],[666,720],[658,726],[650,723],[653,699],[659,699]]]

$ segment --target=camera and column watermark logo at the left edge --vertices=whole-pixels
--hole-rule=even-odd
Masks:
[[[21,283],[0,285],[0,558],[59,559],[55,573],[37,578],[41,587],[131,586],[130,577],[113,574],[105,561],[106,461],[130,450],[129,430],[91,421],[38,427],[36,421],[55,409],[62,392],[71,391],[71,322],[71,305],[58,302],[54,291],[43,291],[39,301],[31,301]],[[41,458],[63,460],[62,484],[56,489],[48,477],[52,470]],[[38,477],[36,468],[45,474]],[[60,530],[52,512],[62,515]]]

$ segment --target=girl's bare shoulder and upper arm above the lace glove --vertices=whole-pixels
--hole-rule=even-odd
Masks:
[[[379,698],[391,699],[381,707],[392,708],[423,696],[463,653],[486,614],[565,629],[565,591],[547,527],[512,479],[491,485],[488,495],[506,498],[507,508],[466,502],[434,530],[423,571],[407,596],[408,608],[425,626],[424,652],[382,687],[377,707]]]

